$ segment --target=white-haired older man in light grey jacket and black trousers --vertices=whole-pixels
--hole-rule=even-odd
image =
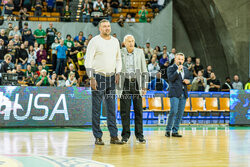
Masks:
[[[135,38],[132,35],[124,37],[125,48],[121,49],[122,71],[117,85],[117,95],[120,97],[122,142],[128,142],[130,137],[130,106],[133,100],[135,112],[135,136],[138,142],[145,143],[142,124],[142,96],[146,94],[148,71],[145,55],[142,49],[135,48]]]

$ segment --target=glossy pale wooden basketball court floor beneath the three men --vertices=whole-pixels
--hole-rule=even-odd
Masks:
[[[12,155],[77,157],[118,167],[250,164],[248,127],[183,126],[183,138],[165,137],[165,127],[146,127],[146,144],[136,143],[132,135],[125,145],[110,145],[103,129],[104,146],[94,145],[90,128],[0,129],[0,166],[4,166],[1,156]]]

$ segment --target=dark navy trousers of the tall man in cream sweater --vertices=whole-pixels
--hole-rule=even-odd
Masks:
[[[116,127],[115,113],[115,76],[104,77],[95,75],[97,82],[97,90],[92,90],[92,130],[95,138],[102,137],[100,128],[101,103],[104,102],[107,106],[107,124],[111,137],[118,136]]]

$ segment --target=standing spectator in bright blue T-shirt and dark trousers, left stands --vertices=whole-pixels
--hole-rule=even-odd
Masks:
[[[64,46],[64,41],[60,41],[60,45],[57,46],[57,64],[56,64],[56,74],[61,75],[63,74],[63,71],[65,69],[66,65],[66,53],[67,53],[67,47]]]

